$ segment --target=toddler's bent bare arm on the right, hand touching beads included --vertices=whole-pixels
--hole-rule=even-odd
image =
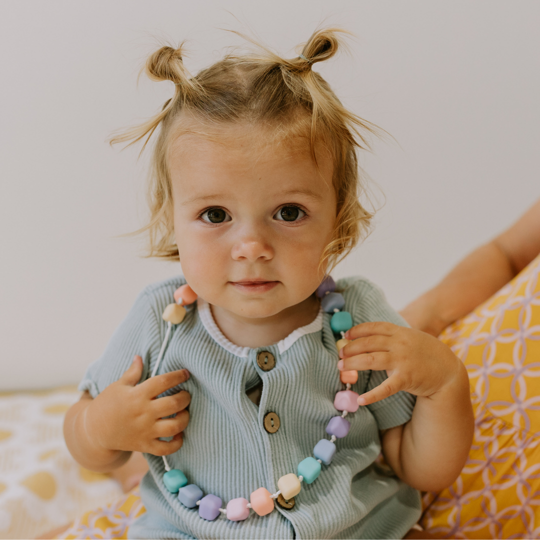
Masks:
[[[413,416],[382,435],[390,467],[422,491],[440,491],[460,474],[473,440],[469,377],[463,363],[441,341],[389,322],[351,328],[340,350],[339,368],[386,370],[388,379],[362,394],[368,405],[400,390],[417,396]]]

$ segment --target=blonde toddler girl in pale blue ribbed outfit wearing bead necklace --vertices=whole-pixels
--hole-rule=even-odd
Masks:
[[[376,130],[312,71],[336,32],[192,78],[180,49],[146,63],[174,96],[117,140],[159,127],[151,254],[184,277],[138,296],[65,421],[86,468],[145,453],[130,538],[402,538],[417,490],[467,458],[461,362],[367,280],[322,280],[369,225],[356,150]]]

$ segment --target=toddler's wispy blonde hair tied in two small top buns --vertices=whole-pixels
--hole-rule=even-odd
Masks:
[[[178,123],[194,118],[207,124],[249,122],[273,126],[278,131],[301,132],[309,140],[312,157],[322,143],[333,158],[333,187],[338,206],[332,240],[321,256],[329,271],[367,236],[373,212],[360,204],[365,181],[356,151],[369,149],[370,134],[380,134],[374,124],[343,107],[313,64],[332,58],[341,46],[340,29],[318,30],[303,46],[299,57],[284,59],[251,38],[257,51],[228,54],[195,77],[187,72],[182,45],[163,46],[146,61],[152,80],[171,80],[174,96],[161,112],[140,126],[111,139],[111,144],[145,139],[143,150],[160,127],[153,149],[149,184],[150,221],[139,232],[149,232],[149,257],[178,260],[174,241],[173,201],[167,156],[177,136]],[[245,37],[245,36],[242,36]]]

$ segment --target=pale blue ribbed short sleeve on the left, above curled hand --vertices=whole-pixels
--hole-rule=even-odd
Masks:
[[[86,370],[79,390],[88,390],[92,397],[96,397],[109,384],[120,379],[135,355],[143,359],[141,380],[144,381],[148,376],[150,359],[159,350],[161,326],[149,294],[141,292],[112,335],[103,355]]]

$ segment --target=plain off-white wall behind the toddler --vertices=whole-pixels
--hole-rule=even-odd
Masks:
[[[219,28],[293,56],[325,19],[357,39],[317,68],[399,143],[365,159],[386,206],[334,275],[400,308],[540,196],[539,2],[4,0],[0,389],[77,382],[140,289],[180,272],[115,238],[144,222],[145,165],[105,139],[172,95],[136,87],[153,36],[188,38],[196,72],[240,43]]]

